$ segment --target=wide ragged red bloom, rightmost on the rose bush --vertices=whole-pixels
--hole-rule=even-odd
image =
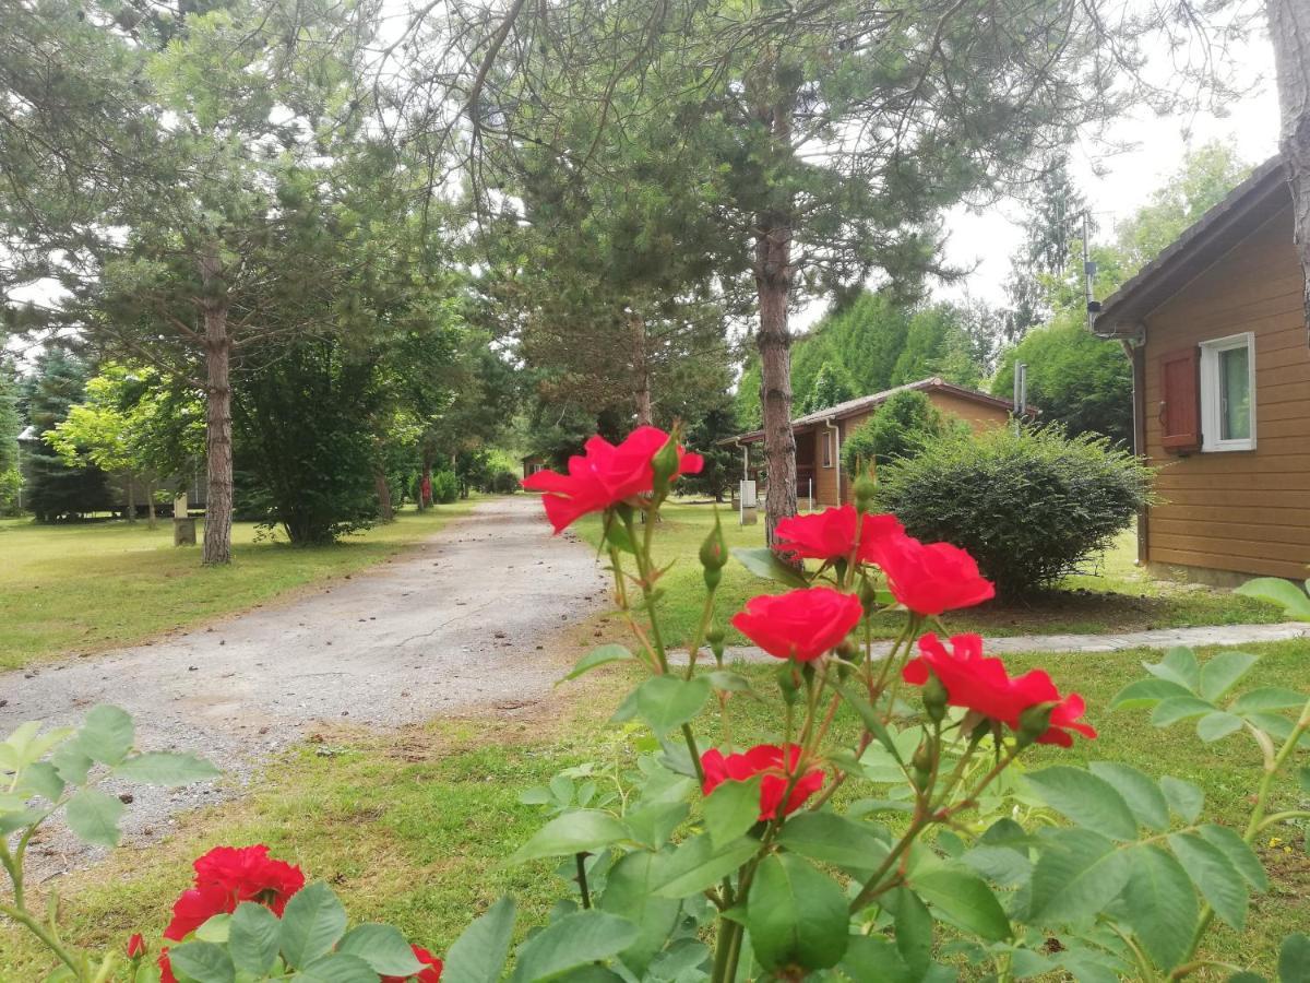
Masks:
[[[951,649],[948,651],[935,634],[925,634],[918,640],[920,655],[905,663],[901,674],[905,682],[922,685],[931,672],[946,688],[946,701],[951,706],[963,706],[1015,730],[1020,714],[1030,706],[1056,704],[1049,729],[1038,738],[1043,744],[1069,747],[1073,738],[1065,729],[1096,737],[1089,723],[1078,721],[1085,709],[1082,697],[1077,693],[1061,697],[1051,676],[1041,670],[1011,679],[1001,659],[982,655],[982,640],[976,634],[955,636]]]

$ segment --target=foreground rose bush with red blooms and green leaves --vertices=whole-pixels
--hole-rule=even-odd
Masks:
[[[0,914],[50,949],[51,979],[79,983],[1259,979],[1205,942],[1216,920],[1243,929],[1251,895],[1268,887],[1256,838],[1310,819],[1272,809],[1293,772],[1310,796],[1306,693],[1238,693],[1255,657],[1201,663],[1175,649],[1112,704],[1149,708],[1159,727],[1195,721],[1204,742],[1246,734],[1262,769],[1241,831],[1207,822],[1204,792],[1179,779],[1117,761],[1030,769],[1038,744],[1058,755],[1096,738],[1082,699],[1041,670],[1013,675],[977,636],[948,637],[939,615],[980,603],[990,585],[964,550],[870,515],[863,484],[854,507],[783,523],[777,554],[738,552],[791,588],[734,619],[777,659],[769,672],[724,659],[714,598],[730,557],[718,528],[700,550],[701,624],[673,653],[652,543],[673,482],[696,467],[676,438],[642,429],[617,447],[590,442],[569,474],[531,480],[557,531],[600,514],[635,644],[588,653],[569,678],[635,666],[641,682],[614,718],[648,737],[633,767],[575,765],[524,793],[549,819],[510,862],[557,858],[565,896],[517,946],[508,898],[441,959],[385,925],[347,931],[325,883],[305,883],[262,847],[199,858],[157,948],[143,935],[102,955],[68,945],[26,904],[22,858],[37,828],[58,811],[113,844],[122,802],[101,781],[214,775],[185,755],[135,752],[131,721],[113,708],[92,710],[79,731],[24,725],[0,744],[0,861],[13,887]],[[1252,590],[1310,617],[1290,585]],[[886,609],[905,616],[888,653],[869,625]],[[770,708],[765,742],[734,739],[734,700]],[[1285,983],[1306,979],[1310,938],[1290,936],[1279,966]]]

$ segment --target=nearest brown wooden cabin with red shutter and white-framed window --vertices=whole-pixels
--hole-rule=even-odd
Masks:
[[[1231,585],[1310,564],[1310,349],[1280,159],[1256,168],[1096,315],[1133,366],[1138,523],[1157,571]]]

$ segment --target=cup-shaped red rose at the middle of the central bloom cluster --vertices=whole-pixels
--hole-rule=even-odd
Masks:
[[[854,594],[810,587],[751,598],[732,626],[770,655],[810,662],[840,645],[863,615]]]

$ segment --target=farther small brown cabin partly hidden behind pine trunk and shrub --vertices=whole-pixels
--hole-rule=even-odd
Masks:
[[[938,410],[963,419],[975,433],[1005,423],[1013,409],[1009,400],[934,376],[807,413],[791,421],[791,433],[796,438],[796,495],[812,497],[816,507],[849,502],[850,476],[844,473],[841,465],[841,442],[891,396],[905,389],[922,392]],[[753,477],[764,467],[762,430],[752,430],[723,443],[741,448],[747,474]],[[760,452],[752,453],[753,446],[758,446]]]

